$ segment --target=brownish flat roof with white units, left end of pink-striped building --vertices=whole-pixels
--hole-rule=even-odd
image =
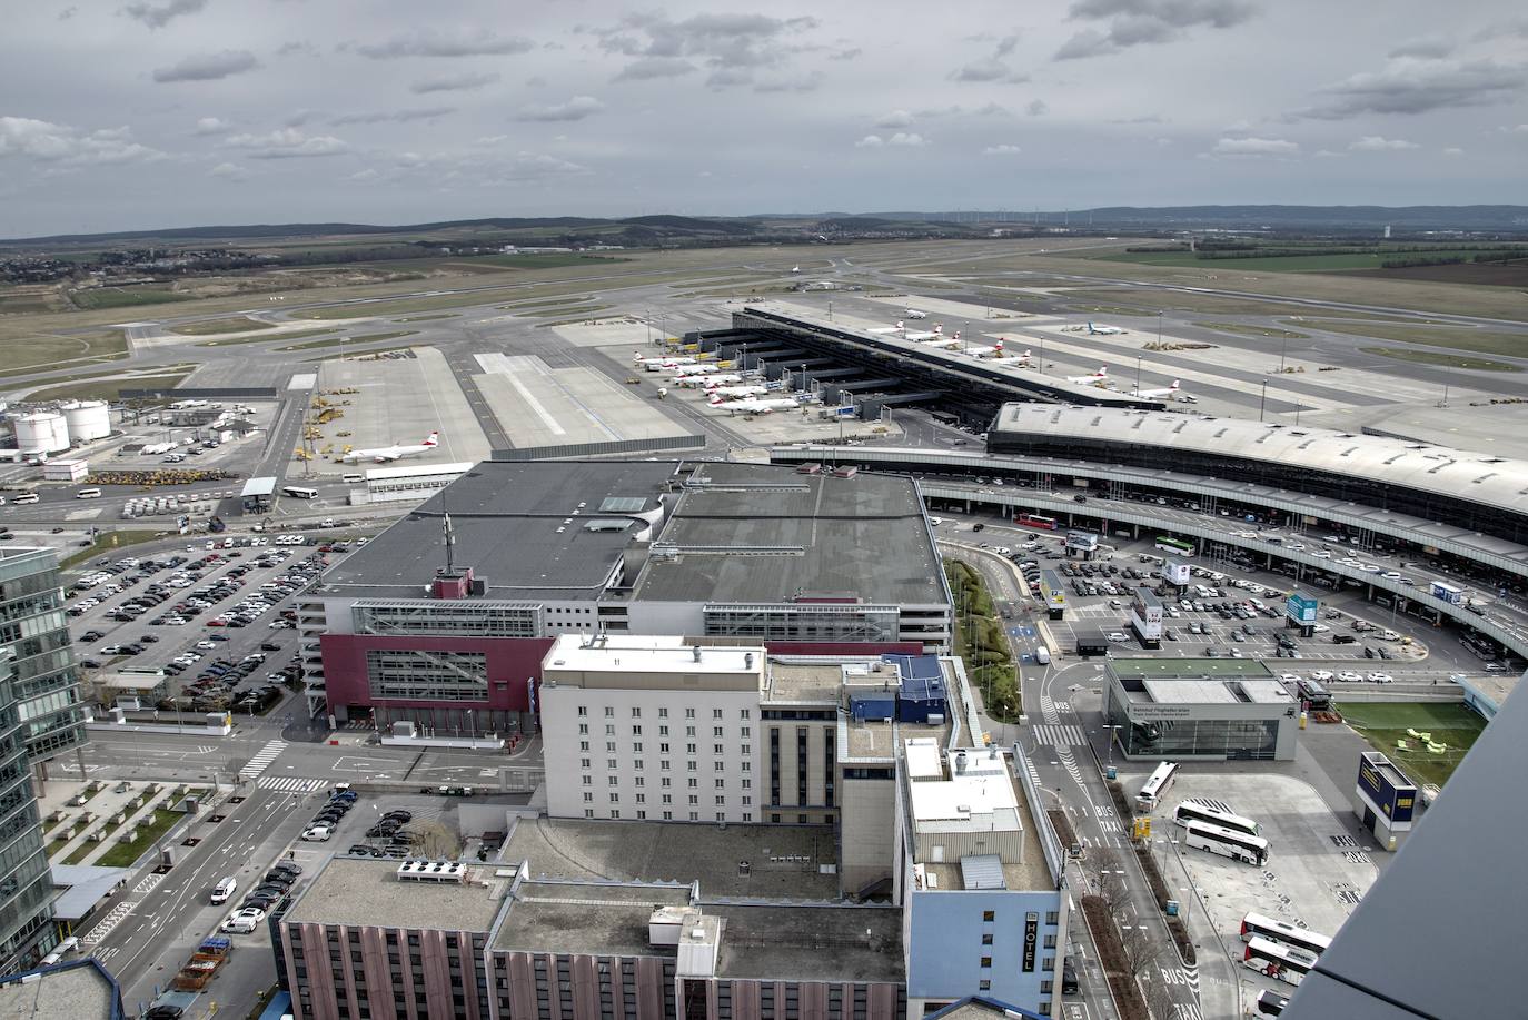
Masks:
[[[336,856],[286,913],[292,924],[487,931],[510,878],[469,866],[466,882],[399,881],[399,861]]]

